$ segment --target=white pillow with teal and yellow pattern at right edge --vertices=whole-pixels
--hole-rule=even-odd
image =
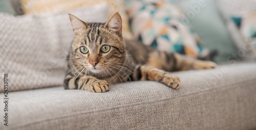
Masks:
[[[255,13],[248,13],[256,11],[256,0],[247,0],[246,2],[243,0],[216,1],[230,35],[239,49],[236,55],[245,61],[256,60],[255,38],[253,38]]]

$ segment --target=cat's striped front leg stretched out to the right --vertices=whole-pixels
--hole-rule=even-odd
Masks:
[[[148,65],[137,65],[134,69],[134,74],[133,80],[157,81],[174,89],[178,89],[181,85],[180,78],[177,75],[169,74]]]

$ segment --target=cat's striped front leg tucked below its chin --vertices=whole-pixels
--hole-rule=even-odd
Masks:
[[[65,89],[88,90],[91,92],[107,92],[107,81],[99,80],[92,76],[74,77],[67,75],[64,80]]]

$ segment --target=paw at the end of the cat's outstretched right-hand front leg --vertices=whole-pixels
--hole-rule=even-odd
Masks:
[[[180,88],[180,77],[177,75],[171,75],[168,73],[163,73],[160,76],[160,83],[166,84],[168,87],[172,87],[173,89],[179,89]]]

